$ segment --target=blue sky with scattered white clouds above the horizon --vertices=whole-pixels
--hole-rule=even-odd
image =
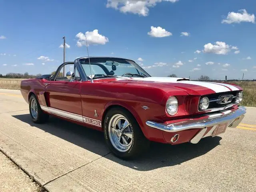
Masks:
[[[255,7],[255,0],[0,0],[0,73],[49,74],[63,61],[62,37],[73,61],[87,56],[86,35],[90,56],[129,58],[152,76],[256,78]]]

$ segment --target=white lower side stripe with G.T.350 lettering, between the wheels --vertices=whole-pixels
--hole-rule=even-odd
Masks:
[[[86,117],[86,116],[82,116],[82,115],[79,115],[79,114],[74,114],[74,113],[62,111],[62,110],[59,110],[59,109],[55,109],[55,108],[51,108],[51,107],[47,107],[47,106],[43,106],[43,105],[40,105],[40,107],[44,111],[51,112],[51,113],[59,115],[59,116],[63,116],[63,117],[66,117],[66,118],[74,119],[74,120],[81,121],[81,122],[84,122],[84,123],[87,123],[87,124],[91,124],[91,125],[101,127],[101,121],[97,120],[97,119],[92,119],[92,118],[89,118],[89,117]]]

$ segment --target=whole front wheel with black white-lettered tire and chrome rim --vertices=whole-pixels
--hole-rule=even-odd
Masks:
[[[136,158],[149,148],[134,116],[123,108],[109,110],[104,118],[104,137],[113,154],[122,159]]]

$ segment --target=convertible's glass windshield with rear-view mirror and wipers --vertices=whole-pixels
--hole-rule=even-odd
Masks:
[[[80,64],[87,78],[106,78],[111,76],[123,77],[148,77],[150,76],[138,64],[131,60],[119,58],[90,58],[91,69],[88,58],[80,59]]]

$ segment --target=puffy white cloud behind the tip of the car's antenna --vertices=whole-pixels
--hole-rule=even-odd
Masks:
[[[78,47],[86,46],[86,38],[88,45],[104,45],[108,42],[108,38],[99,34],[98,29],[94,29],[93,31],[87,31],[85,32],[85,34],[79,32],[78,34],[76,34],[76,38],[78,38],[78,41],[76,42],[76,45]]]

